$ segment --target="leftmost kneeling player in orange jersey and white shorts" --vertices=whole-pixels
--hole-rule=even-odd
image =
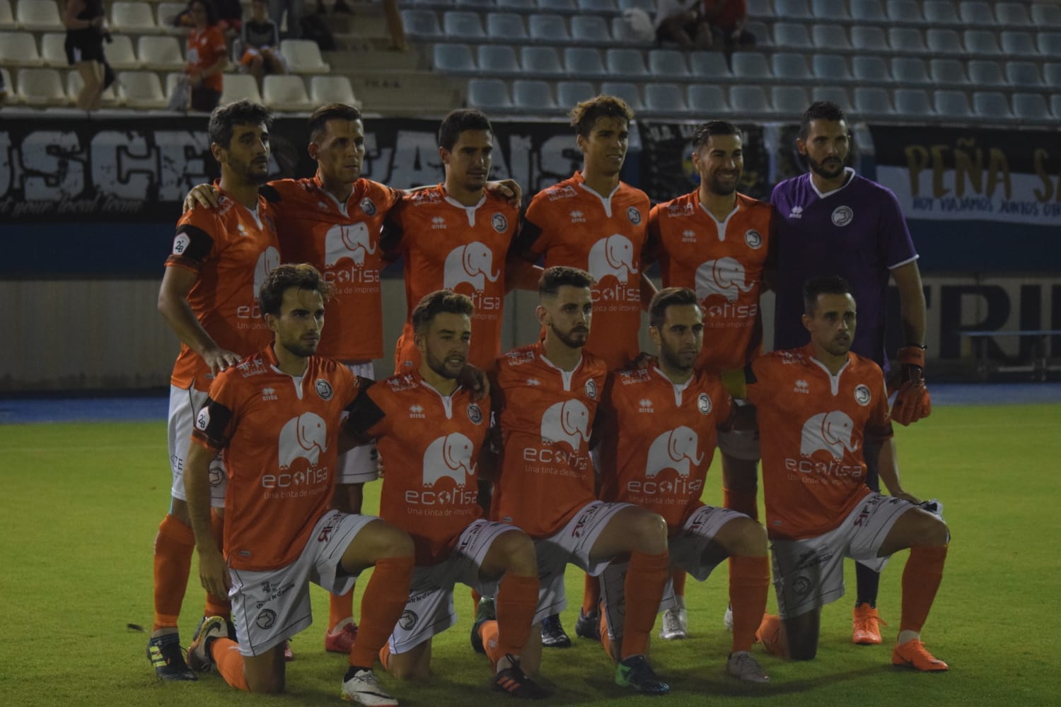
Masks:
[[[310,582],[343,594],[373,567],[343,696],[397,705],[372,666],[404,607],[414,546],[380,518],[329,510],[343,413],[366,384],[315,355],[331,293],[306,263],[269,273],[260,301],[273,343],[219,375],[195,419],[186,480],[199,579],[208,591],[227,593],[241,620],[237,643],[224,619],[207,619],[188,662],[216,668],[242,690],[282,691],[283,643],[313,622]],[[210,534],[209,464],[218,453],[229,473],[224,555]]]

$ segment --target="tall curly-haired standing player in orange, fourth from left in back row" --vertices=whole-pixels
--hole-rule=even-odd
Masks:
[[[609,371],[638,357],[641,308],[656,291],[641,266],[648,196],[619,178],[632,118],[629,106],[613,95],[574,107],[571,125],[582,169],[535,195],[515,246],[529,262],[544,257],[545,267],[562,265],[593,276],[594,326],[586,350],[603,358]],[[598,602],[597,583],[587,578],[577,635],[599,638]],[[549,617],[542,632],[549,648],[571,646],[559,616]]]

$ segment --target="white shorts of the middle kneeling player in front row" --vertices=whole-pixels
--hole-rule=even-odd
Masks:
[[[549,537],[535,541],[538,555],[538,612],[534,622],[559,614],[568,606],[563,590],[563,570],[568,564],[577,565],[591,577],[596,577],[611,562],[611,558],[590,560],[590,550],[608,523],[616,513],[632,503],[606,503],[595,500],[575,513],[563,528]]]

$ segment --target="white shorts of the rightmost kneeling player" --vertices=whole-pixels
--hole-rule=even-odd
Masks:
[[[773,589],[781,618],[802,616],[843,596],[843,558],[881,571],[888,558],[877,556],[891,527],[914,503],[871,492],[838,527],[817,537],[776,540]]]

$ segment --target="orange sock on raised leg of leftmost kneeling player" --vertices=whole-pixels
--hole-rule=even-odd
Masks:
[[[376,561],[372,579],[361,597],[361,626],[350,651],[350,665],[371,668],[376,656],[394,632],[408,601],[413,580],[413,558],[383,558]]]

